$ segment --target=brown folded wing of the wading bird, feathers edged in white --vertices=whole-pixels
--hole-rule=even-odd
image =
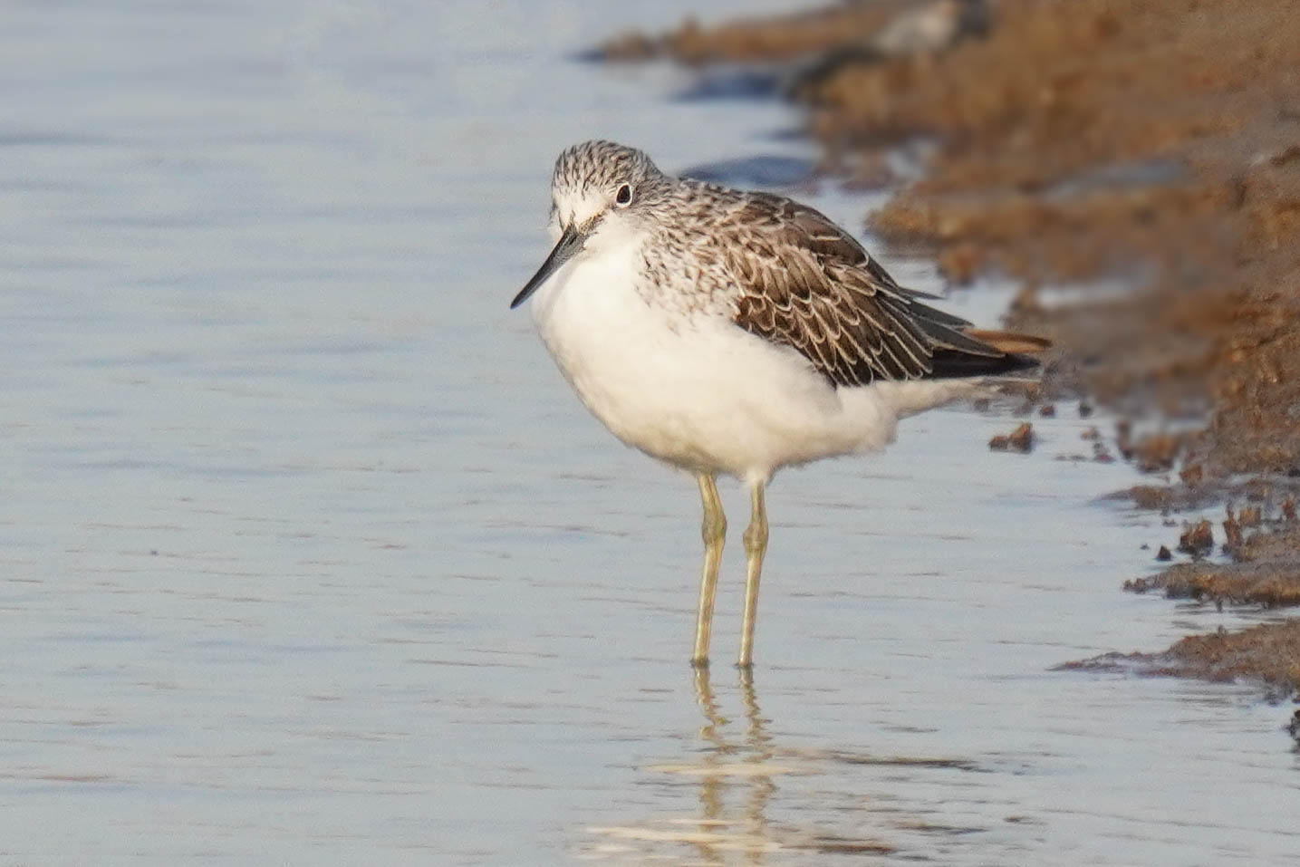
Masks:
[[[811,208],[748,194],[719,229],[732,238],[716,252],[742,290],[733,321],[798,350],[835,385],[932,376],[936,350],[953,341],[952,348],[1002,355],[962,338],[954,329],[965,320],[920,304]]]

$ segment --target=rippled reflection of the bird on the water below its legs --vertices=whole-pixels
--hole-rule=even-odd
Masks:
[[[784,744],[772,734],[749,673],[740,676],[734,697],[719,698],[707,668],[697,669],[694,695],[702,724],[689,758],[638,772],[637,783],[654,784],[671,806],[634,824],[588,827],[584,861],[776,866],[837,854],[924,862],[928,846],[918,851],[915,838],[896,845],[887,840],[890,832],[923,832],[933,844],[936,835],[956,841],[984,831],[923,820],[888,794],[892,777],[987,770],[975,762]],[[736,699],[741,715],[731,718],[723,707]]]

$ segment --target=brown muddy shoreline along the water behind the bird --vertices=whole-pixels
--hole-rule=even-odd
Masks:
[[[823,170],[850,183],[897,186],[885,152],[933,143],[924,177],[897,186],[868,225],[928,251],[954,286],[987,272],[1019,279],[1013,324],[1058,347],[1041,400],[1083,396],[1132,419],[1104,434],[1152,476],[1124,497],[1186,526],[1161,552],[1178,562],[1126,589],[1300,603],[1300,16],[1290,0],[849,3],[685,22],[594,53],[763,69],[802,107]],[[1205,519],[1225,504],[1227,520]],[[1294,694],[1300,621],[1123,659]]]

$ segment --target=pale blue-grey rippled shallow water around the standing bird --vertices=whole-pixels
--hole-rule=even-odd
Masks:
[[[696,5],[9,10],[0,863],[1300,851],[1256,689],[1049,671],[1244,620],[1118,591],[1173,530],[1093,500],[1123,465],[1053,460],[1096,419],[1020,456],[940,411],[781,476],[753,682],[685,664],[694,485],[506,304],[564,144],[811,156],[779,105],[566,60]]]

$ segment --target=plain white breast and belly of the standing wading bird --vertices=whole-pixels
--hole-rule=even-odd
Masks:
[[[533,302],[560,370],[623,442],[693,472],[766,480],[893,438],[898,386],[837,390],[794,350],[725,318],[651,307],[632,265],[630,250],[575,261]],[[900,385],[915,402],[922,383]]]

